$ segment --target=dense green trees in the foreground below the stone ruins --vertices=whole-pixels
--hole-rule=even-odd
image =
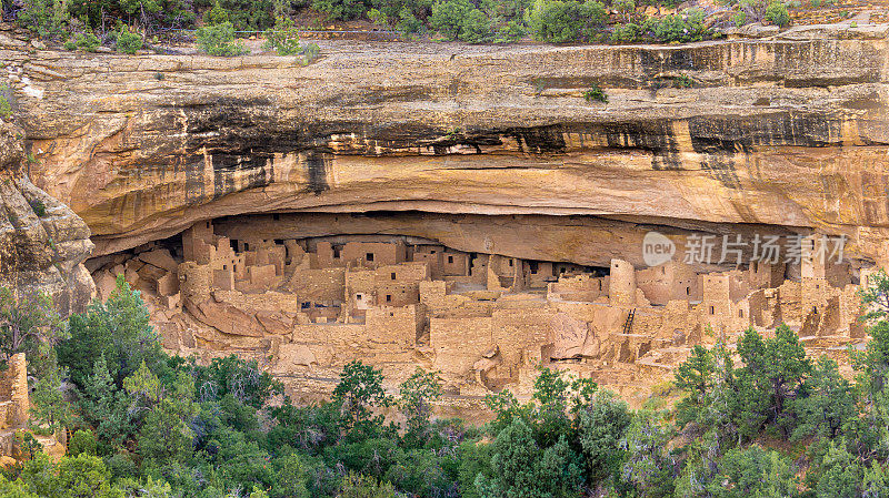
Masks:
[[[58,318],[39,296],[8,297],[1,349],[42,357],[32,430],[72,436],[51,463],[20,431],[27,459],[0,477],[0,496],[887,496],[889,277],[871,282],[855,383],[807,357],[792,329],[749,329],[737,347],[692,348],[673,409],[633,411],[541,368],[526,403],[489,395],[493,419],[478,428],[433,419],[441,380],[419,368],[393,396],[380,370],[352,362],[330,402],[296,406],[254,360],[169,357],[123,281],[70,318],[70,336],[51,333]],[[23,332],[37,344],[14,346]]]

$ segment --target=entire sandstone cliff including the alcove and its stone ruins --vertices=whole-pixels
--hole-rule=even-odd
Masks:
[[[389,387],[440,370],[456,405],[528,393],[538,364],[632,403],[692,345],[781,323],[848,366],[857,287],[889,263],[889,58],[882,31],[823,29],[459,53],[330,41],[309,65],[84,65],[7,43],[33,181],[8,192],[13,246],[69,308],[87,273],[100,298],[122,274],[170,350],[256,358],[298,402],[361,359]],[[607,103],[585,99],[592,83]],[[29,213],[38,189],[50,216]],[[651,232],[669,262],[645,261]],[[686,261],[692,236],[715,257]],[[800,254],[721,261],[736,236]],[[822,236],[848,238],[841,261]]]

